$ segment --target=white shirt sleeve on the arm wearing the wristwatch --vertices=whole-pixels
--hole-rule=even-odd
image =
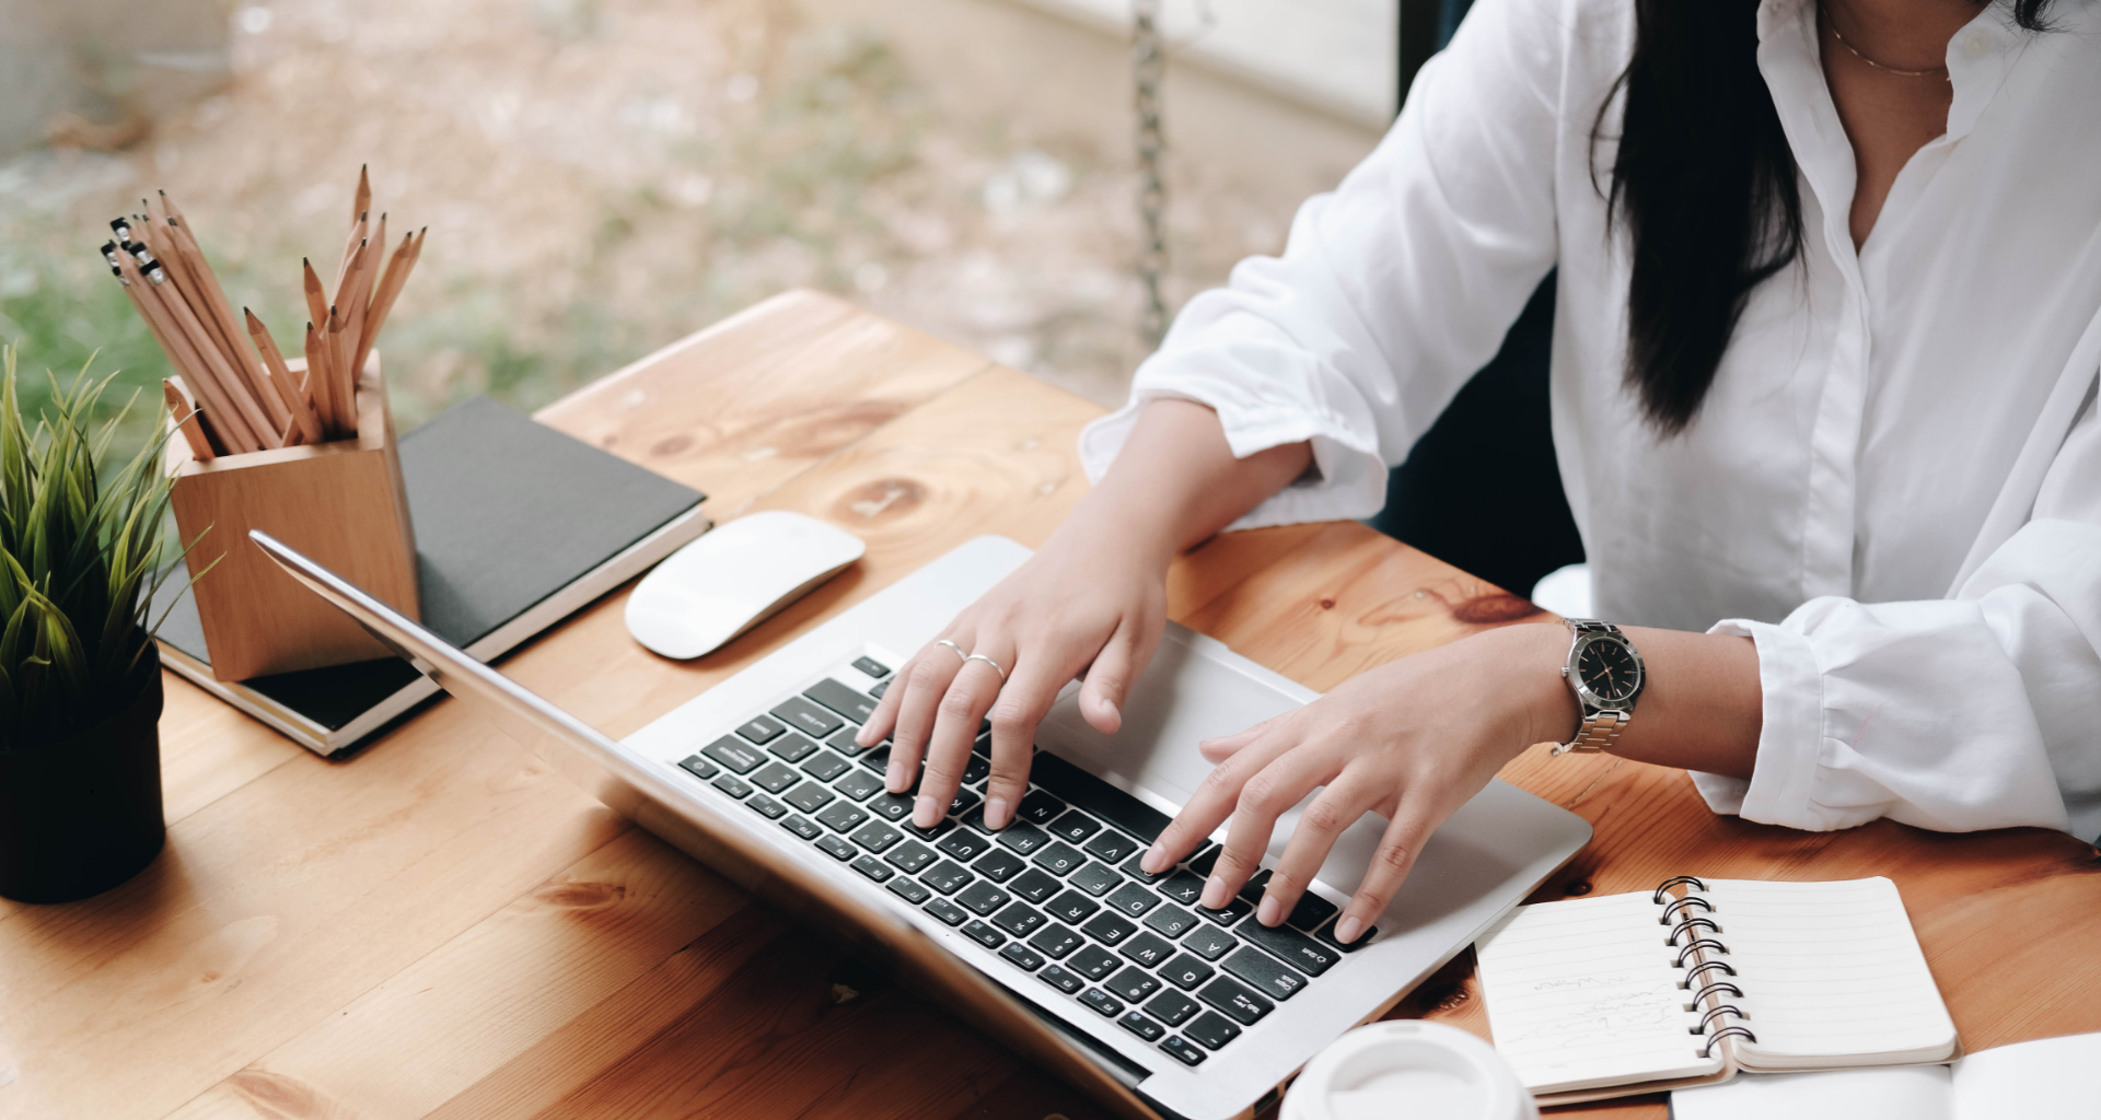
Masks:
[[[2065,439],[2032,519],[1952,599],[1822,597],[1759,647],[1748,782],[1696,773],[1719,813],[1790,828],[2101,832],[2101,420]]]

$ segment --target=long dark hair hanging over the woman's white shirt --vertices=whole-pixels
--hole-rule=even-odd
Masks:
[[[2051,0],[2011,0],[2044,27]],[[1803,252],[1803,195],[1759,74],[1759,0],[1635,0],[1607,223],[1626,223],[1626,385],[1662,435],[1700,414],[1750,290]],[[1611,105],[1611,99],[1605,99]],[[1599,109],[1590,143],[1605,128]]]

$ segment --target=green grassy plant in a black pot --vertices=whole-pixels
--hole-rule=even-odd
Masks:
[[[23,418],[0,353],[0,895],[71,901],[139,874],[166,841],[160,654],[147,605],[168,477],[160,439],[105,462],[109,378],[53,378]],[[164,576],[162,576],[164,578]]]

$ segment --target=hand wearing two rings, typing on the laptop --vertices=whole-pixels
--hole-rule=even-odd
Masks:
[[[1124,696],[1153,658],[1166,624],[1174,542],[1153,536],[1147,540],[1143,525],[1122,523],[1109,504],[1076,509],[1036,557],[956,616],[897,672],[855,742],[874,746],[895,733],[885,777],[891,792],[912,788],[924,754],[914,824],[929,828],[948,813],[987,712],[990,828],[1004,828],[1027,792],[1036,725],[1067,681],[1086,672],[1080,714],[1097,731],[1107,735],[1122,727]],[[966,660],[969,654],[979,658]]]

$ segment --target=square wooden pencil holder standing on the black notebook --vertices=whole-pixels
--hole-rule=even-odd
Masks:
[[[300,361],[288,361],[294,370]],[[248,540],[263,530],[391,607],[420,618],[416,534],[380,355],[357,378],[357,437],[197,462],[168,441],[170,504],[189,551],[212,677],[246,681],[393,656]],[[202,534],[202,540],[200,540]]]

